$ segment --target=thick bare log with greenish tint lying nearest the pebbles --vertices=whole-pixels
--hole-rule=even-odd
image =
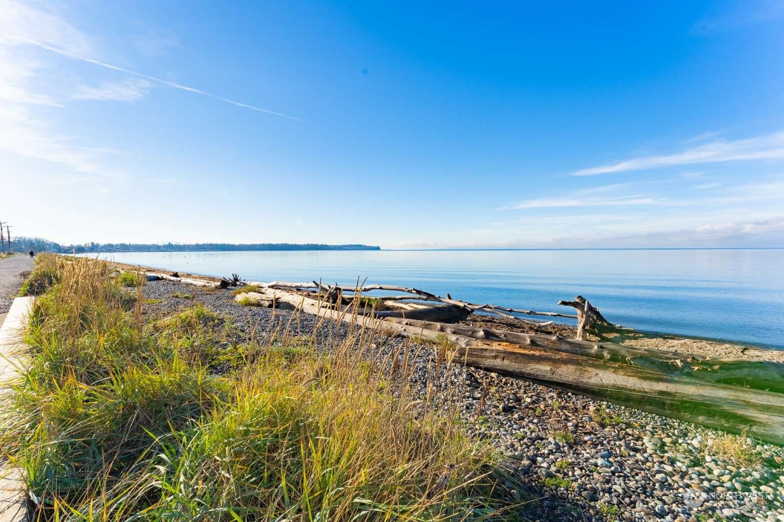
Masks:
[[[631,408],[784,443],[784,394],[517,345],[458,347],[456,360]]]

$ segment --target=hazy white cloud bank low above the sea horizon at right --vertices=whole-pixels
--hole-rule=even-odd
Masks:
[[[506,207],[524,211],[513,220],[477,223],[476,231],[466,229],[463,236],[423,231],[420,243],[429,239],[449,247],[784,246],[779,233],[784,222],[784,176],[718,183],[726,182],[695,189],[689,178],[672,178],[527,200]],[[603,208],[594,212],[580,207]],[[575,236],[578,230],[580,235]]]

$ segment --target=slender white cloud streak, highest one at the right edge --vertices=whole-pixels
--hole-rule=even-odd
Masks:
[[[656,167],[672,167],[689,164],[711,164],[740,160],[784,159],[784,132],[757,136],[750,139],[716,140],[694,146],[679,153],[661,156],[635,157],[617,163],[583,168],[572,172],[575,176],[612,174],[615,172],[640,171]]]

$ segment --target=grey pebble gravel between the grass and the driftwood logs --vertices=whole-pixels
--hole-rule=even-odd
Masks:
[[[0,265],[2,266],[2,265]],[[196,294],[194,299],[172,293]],[[241,336],[274,329],[317,340],[345,336],[344,323],[287,311],[241,307],[228,290],[209,293],[169,281],[147,283],[146,314],[201,302]],[[390,354],[405,340],[376,339]],[[506,455],[533,498],[532,520],[756,520],[784,522],[784,448],[749,441],[760,464],[717,455],[722,434],[695,424],[597,401],[512,376],[462,365],[436,365],[434,350],[410,344],[413,399],[440,397],[469,434]],[[402,357],[402,355],[400,355]],[[444,393],[439,394],[442,391]],[[444,399],[447,400],[444,400]]]

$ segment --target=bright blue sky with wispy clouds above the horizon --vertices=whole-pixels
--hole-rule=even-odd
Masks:
[[[64,243],[784,247],[784,2],[0,0]]]

